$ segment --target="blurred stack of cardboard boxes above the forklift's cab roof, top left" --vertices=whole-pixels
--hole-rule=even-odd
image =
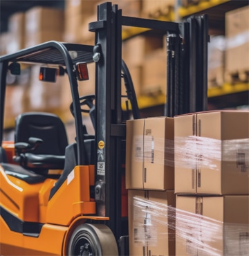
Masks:
[[[3,53],[15,53],[22,48],[49,40],[62,41],[64,11],[36,6],[26,12],[16,12],[8,20],[8,37]]]

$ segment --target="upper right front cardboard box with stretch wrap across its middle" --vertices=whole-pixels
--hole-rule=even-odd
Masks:
[[[249,194],[249,112],[176,116],[175,192]]]

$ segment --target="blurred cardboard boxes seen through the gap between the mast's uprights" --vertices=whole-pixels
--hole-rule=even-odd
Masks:
[[[166,95],[165,35],[138,35],[124,41],[122,59],[129,67],[137,96]]]

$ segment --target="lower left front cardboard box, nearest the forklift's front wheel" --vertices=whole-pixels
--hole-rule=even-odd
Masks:
[[[129,255],[175,255],[173,190],[129,190]]]

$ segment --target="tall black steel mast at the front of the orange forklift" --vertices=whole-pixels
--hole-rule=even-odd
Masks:
[[[102,3],[98,6],[98,21],[89,24],[89,30],[95,32],[93,60],[98,63],[95,77],[97,213],[109,217],[108,226],[121,243],[128,226],[127,218],[121,217],[120,197],[126,136],[120,102],[122,26],[147,28],[167,35],[165,116],[169,117],[207,109],[209,41],[206,15],[175,23],[125,17],[118,6]],[[123,246],[120,247],[122,250]]]

